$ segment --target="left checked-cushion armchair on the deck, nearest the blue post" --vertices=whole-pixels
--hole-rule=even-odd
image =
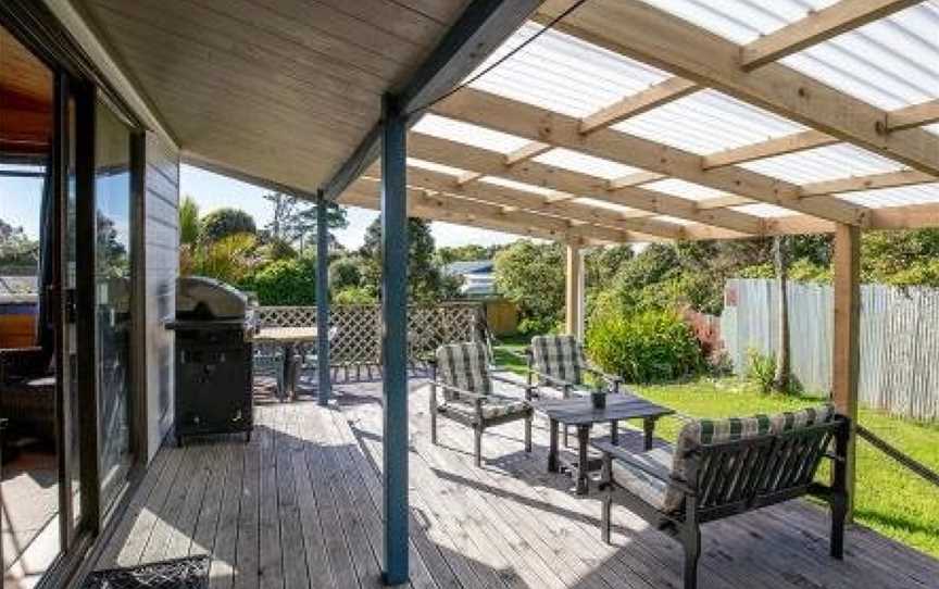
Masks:
[[[531,452],[531,389],[492,374],[485,343],[450,343],[430,361],[430,441],[437,443],[437,416],[473,428],[476,466],[483,464],[483,433],[497,425],[525,421],[525,452]],[[524,390],[524,399],[497,394],[494,381]],[[437,390],[443,392],[438,404]]]

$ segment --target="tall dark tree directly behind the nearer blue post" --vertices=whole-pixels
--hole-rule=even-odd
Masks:
[[[365,260],[364,283],[380,291],[381,284],[381,218],[365,230],[365,242],[359,250]],[[440,267],[434,260],[434,236],[430,222],[408,220],[408,291],[417,302],[436,302],[445,297]]]

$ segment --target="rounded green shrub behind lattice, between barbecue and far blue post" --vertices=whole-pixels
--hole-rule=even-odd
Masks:
[[[277,260],[242,280],[239,287],[256,293],[262,305],[316,304],[316,260]]]

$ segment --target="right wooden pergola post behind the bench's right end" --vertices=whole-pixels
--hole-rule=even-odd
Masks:
[[[861,362],[861,229],[838,224],[835,228],[835,339],[831,362],[831,400],[838,413],[851,418],[848,441],[848,522],[854,506],[855,424],[857,374]]]

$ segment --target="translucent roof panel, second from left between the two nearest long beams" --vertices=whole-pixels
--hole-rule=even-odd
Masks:
[[[701,155],[804,127],[716,90],[702,90],[618,123],[614,129]]]

